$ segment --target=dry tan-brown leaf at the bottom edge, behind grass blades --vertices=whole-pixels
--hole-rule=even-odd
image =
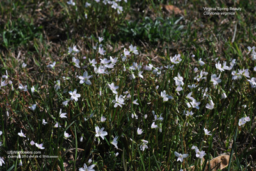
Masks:
[[[229,161],[229,155],[221,155],[210,160],[211,171],[216,171],[218,169],[222,170],[223,168],[228,166],[228,161]],[[209,162],[207,162],[205,166],[205,171],[208,170],[208,165],[209,165]],[[191,170],[191,171],[195,170],[195,166],[189,167],[188,170]]]

